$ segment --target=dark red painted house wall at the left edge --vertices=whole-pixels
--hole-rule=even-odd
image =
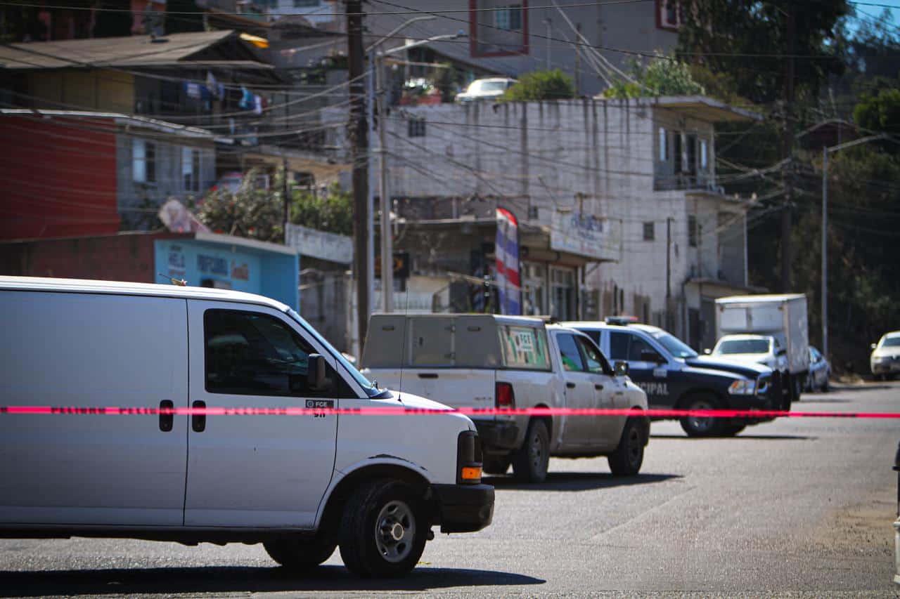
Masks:
[[[0,116],[0,239],[117,232],[115,127]]]

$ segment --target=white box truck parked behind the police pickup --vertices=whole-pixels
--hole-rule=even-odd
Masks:
[[[800,398],[809,372],[806,295],[716,299],[716,337],[714,354],[766,363],[781,372],[782,386],[790,398]]]

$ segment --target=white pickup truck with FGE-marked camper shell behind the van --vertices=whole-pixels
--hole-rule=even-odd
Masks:
[[[608,456],[616,475],[641,469],[650,434],[645,417],[513,416],[523,407],[647,408],[647,396],[596,344],[539,318],[491,314],[376,314],[362,363],[379,385],[451,407],[492,408],[473,416],[484,469],[546,478],[550,456]]]

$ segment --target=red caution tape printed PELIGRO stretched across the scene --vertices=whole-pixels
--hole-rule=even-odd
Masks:
[[[67,407],[0,406],[0,415],[175,415],[175,416],[650,416],[652,418],[874,418],[900,419],[900,412],[785,412],[781,410],[679,410],[574,407],[459,407],[423,409],[396,407]]]

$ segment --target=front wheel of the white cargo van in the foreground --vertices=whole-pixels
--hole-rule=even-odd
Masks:
[[[347,500],[340,557],[357,577],[397,577],[415,568],[430,526],[419,494],[399,480],[365,483]]]

